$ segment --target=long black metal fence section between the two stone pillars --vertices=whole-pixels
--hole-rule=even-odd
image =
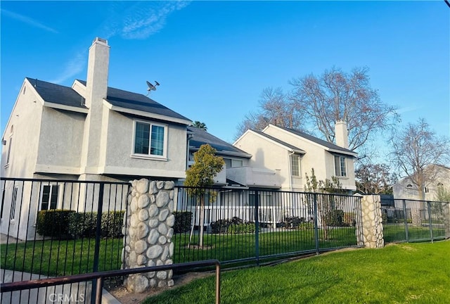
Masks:
[[[180,186],[174,261],[259,263],[359,246],[360,200],[338,194]]]

